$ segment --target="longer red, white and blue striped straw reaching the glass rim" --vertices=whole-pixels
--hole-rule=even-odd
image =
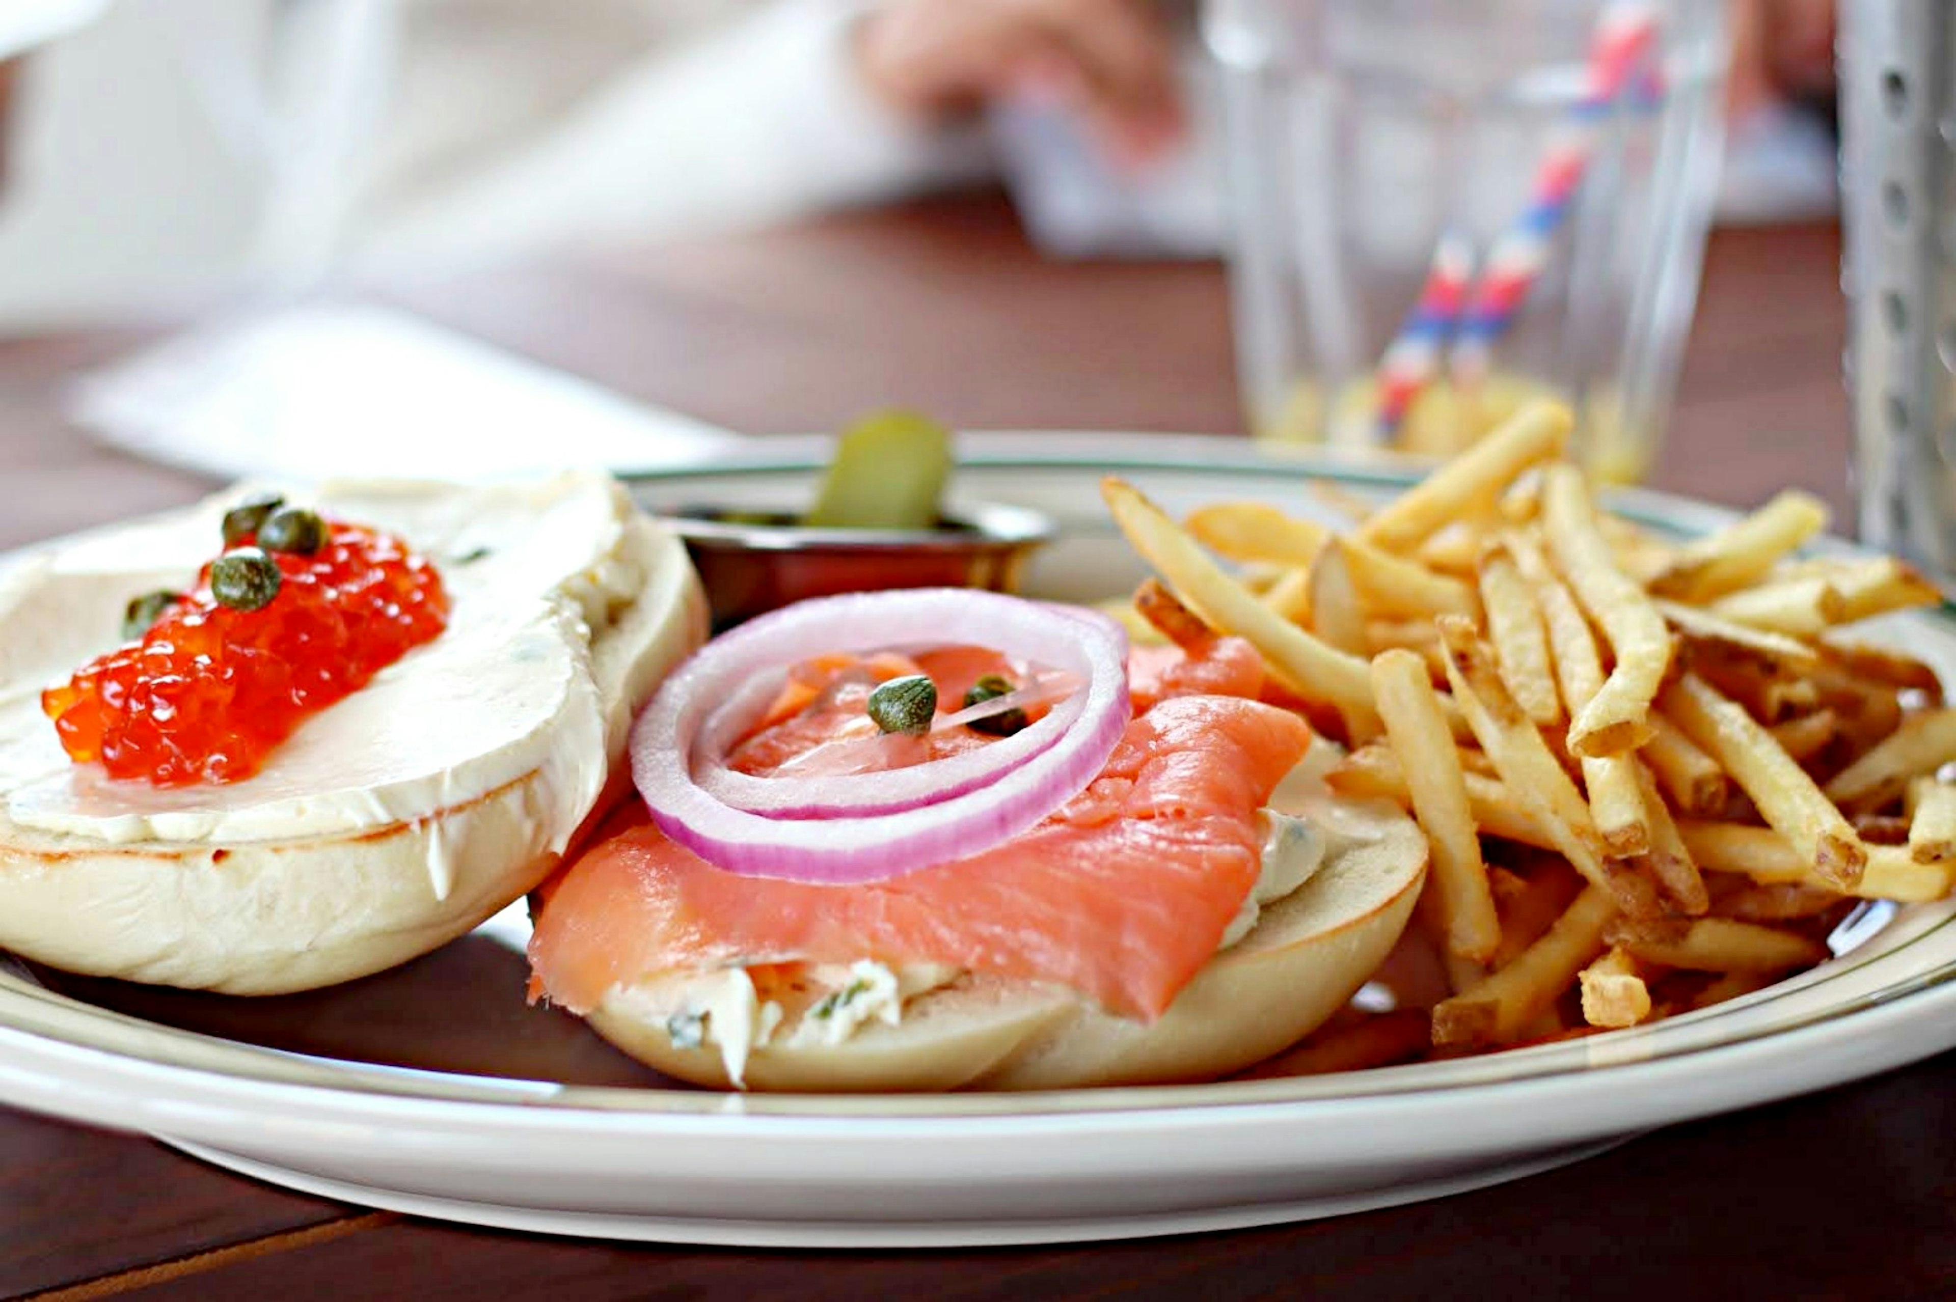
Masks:
[[[1494,340],[1514,325],[1522,301],[1535,287],[1549,260],[1549,244],[1569,217],[1582,174],[1596,152],[1600,125],[1657,43],[1657,12],[1647,0],[1610,4],[1596,20],[1586,66],[1588,86],[1557,125],[1547,154],[1535,170],[1528,207],[1494,240],[1461,313],[1449,364],[1455,383],[1471,385],[1487,377]],[[1661,80],[1655,76],[1647,80],[1647,86],[1637,86],[1639,92],[1663,94]]]

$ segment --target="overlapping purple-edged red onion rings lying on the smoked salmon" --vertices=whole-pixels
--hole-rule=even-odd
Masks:
[[[1013,737],[910,768],[753,778],[720,764],[737,735],[722,710],[741,706],[751,719],[765,704],[757,676],[814,651],[960,641],[1068,669],[1086,686]],[[702,647],[634,725],[632,776],[659,829],[728,872],[870,882],[1029,829],[1099,774],[1127,717],[1127,637],[1097,612],[968,588],[861,592],[798,602]],[[708,731],[722,745],[696,757]],[[728,794],[769,800],[737,807]]]

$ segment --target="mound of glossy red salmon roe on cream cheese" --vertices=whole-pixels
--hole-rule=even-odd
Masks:
[[[41,692],[70,759],[155,786],[248,778],[299,723],[448,624],[440,575],[399,538],[331,522],[319,551],[270,555],[270,604],[221,604],[205,565],[141,641]]]

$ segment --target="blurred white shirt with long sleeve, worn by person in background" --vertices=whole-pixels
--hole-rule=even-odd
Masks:
[[[0,326],[454,270],[980,166],[855,78],[857,0],[123,0],[39,51]]]

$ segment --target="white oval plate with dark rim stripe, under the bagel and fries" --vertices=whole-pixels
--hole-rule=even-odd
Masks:
[[[780,448],[647,479],[645,497],[759,506],[804,493],[812,463]],[[1138,573],[1097,506],[1111,469],[1172,508],[1224,497],[1322,508],[1307,475],[1354,491],[1399,483],[1211,440],[992,436],[966,452],[960,497],[1041,506],[1066,526],[1033,579],[1058,596]],[[1686,532],[1725,518],[1657,495],[1622,504]],[[1942,614],[1870,637],[1905,639],[1956,673]],[[295,1189],[554,1234],[921,1247],[1219,1230],[1473,1189],[1938,1054],[1956,1046],[1952,911],[1882,905],[1856,948],[1800,977],[1510,1054],[1287,1081],[878,1099],[622,1087],[647,1077],[569,1019],[520,1007],[505,944],[520,936],[501,934],[520,917],[505,915],[395,974],[288,1001],[67,977],[55,993],[0,966],[0,1101],[145,1130]],[[434,1009],[426,1024],[417,997]]]

